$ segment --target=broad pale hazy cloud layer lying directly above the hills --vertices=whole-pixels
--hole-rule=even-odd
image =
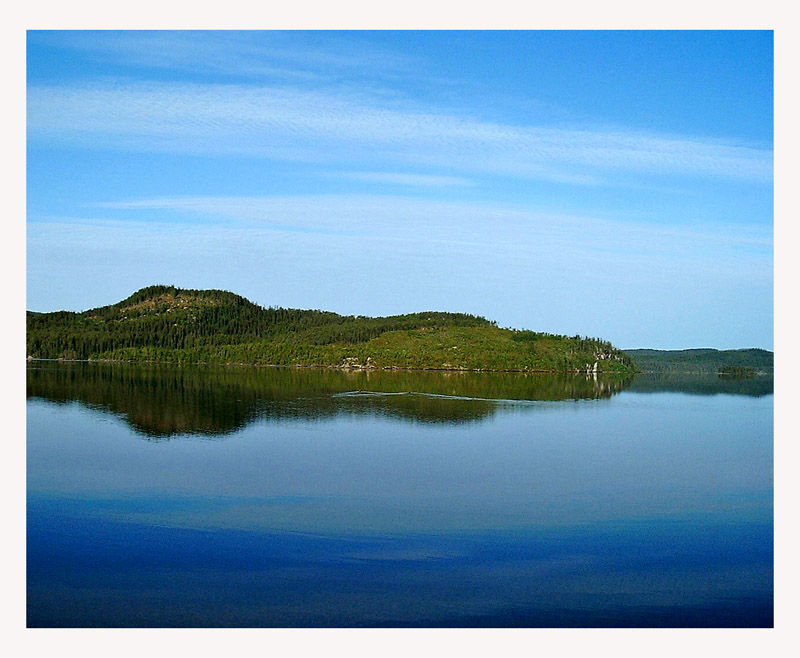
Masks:
[[[461,310],[629,346],[716,344],[723,325],[724,346],[756,344],[743,315],[771,330],[769,227],[351,195],[152,198],[86,214],[28,222],[28,281],[44,291],[30,308],[83,309],[169,282],[341,313]],[[75,280],[106,292],[87,300],[62,284]]]

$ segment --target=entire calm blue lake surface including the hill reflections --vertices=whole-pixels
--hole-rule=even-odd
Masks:
[[[28,625],[773,624],[771,379],[32,362]]]

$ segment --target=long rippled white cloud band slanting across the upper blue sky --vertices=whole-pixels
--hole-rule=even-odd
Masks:
[[[288,86],[32,86],[31,144],[392,164],[593,184],[629,176],[769,183],[772,151],[632,132],[493,123]]]

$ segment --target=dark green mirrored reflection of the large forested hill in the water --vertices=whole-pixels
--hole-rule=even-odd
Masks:
[[[219,435],[258,418],[319,420],[341,413],[422,423],[475,422],[496,400],[607,398],[629,380],[585,375],[355,371],[32,362],[28,397],[79,401],[120,414],[138,432]]]

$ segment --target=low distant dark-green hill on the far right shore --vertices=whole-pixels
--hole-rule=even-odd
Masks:
[[[761,349],[625,350],[642,372],[718,373],[725,367],[753,368],[772,374],[774,353]]]

